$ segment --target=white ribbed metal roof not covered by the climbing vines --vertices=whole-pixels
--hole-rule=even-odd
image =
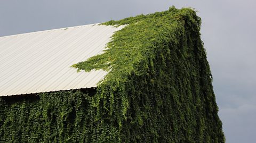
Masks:
[[[90,24],[0,37],[0,96],[96,87],[107,72],[70,66],[102,53],[122,28]]]

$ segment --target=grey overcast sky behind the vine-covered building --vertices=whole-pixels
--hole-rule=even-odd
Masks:
[[[119,20],[172,5],[193,7],[202,18],[202,39],[227,142],[255,142],[254,0],[1,0],[0,36]]]

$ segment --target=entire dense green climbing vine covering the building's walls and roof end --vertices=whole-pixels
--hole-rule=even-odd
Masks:
[[[193,10],[172,7],[103,24],[126,27],[105,53],[74,65],[109,71],[97,93],[1,101],[0,141],[225,142]]]

